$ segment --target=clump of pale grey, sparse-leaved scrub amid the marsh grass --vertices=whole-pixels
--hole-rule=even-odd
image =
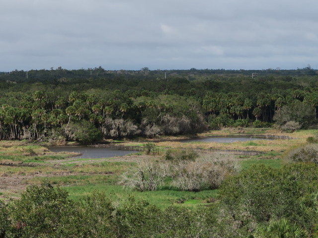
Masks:
[[[225,155],[199,155],[193,150],[167,151],[165,161],[138,162],[121,176],[120,184],[139,191],[154,191],[169,177],[172,186],[183,191],[215,189],[238,168],[235,159]]]

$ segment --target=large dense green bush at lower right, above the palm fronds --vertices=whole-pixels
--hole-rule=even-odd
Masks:
[[[286,218],[311,230],[318,221],[316,207],[304,201],[317,192],[317,186],[318,167],[314,164],[289,164],[282,169],[261,165],[226,180],[218,195],[221,206],[239,227],[254,229],[254,223]]]

